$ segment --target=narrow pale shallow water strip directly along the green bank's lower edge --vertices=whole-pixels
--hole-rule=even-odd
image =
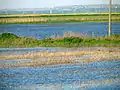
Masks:
[[[37,53],[41,51],[48,51],[48,52],[64,52],[64,51],[86,51],[86,50],[120,50],[119,47],[75,47],[75,48],[65,48],[65,47],[36,47],[36,48],[0,48],[0,55],[20,55],[20,54],[27,54],[27,53]]]

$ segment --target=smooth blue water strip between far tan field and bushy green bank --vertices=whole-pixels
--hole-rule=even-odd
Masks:
[[[56,23],[56,24],[10,24],[0,25],[0,33],[14,33],[18,36],[49,38],[72,31],[93,37],[107,35],[108,23]],[[93,35],[94,32],[94,35]],[[120,23],[112,23],[112,34],[120,34]]]

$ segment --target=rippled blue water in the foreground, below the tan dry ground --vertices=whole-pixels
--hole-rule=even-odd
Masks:
[[[0,90],[119,90],[120,60],[0,68]]]

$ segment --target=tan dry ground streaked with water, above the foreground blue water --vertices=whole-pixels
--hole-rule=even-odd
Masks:
[[[18,62],[15,64],[0,64],[0,67],[24,67],[44,66],[73,63],[89,63],[103,60],[120,59],[120,50],[74,50],[74,51],[41,51],[21,55],[0,55],[0,60],[25,60],[30,62]],[[44,59],[44,60],[43,60]]]

